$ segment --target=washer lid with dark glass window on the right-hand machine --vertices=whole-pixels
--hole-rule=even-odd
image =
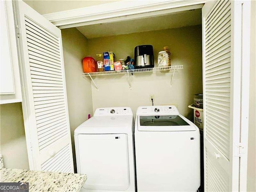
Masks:
[[[138,116],[139,131],[194,131],[195,125],[182,115]]]

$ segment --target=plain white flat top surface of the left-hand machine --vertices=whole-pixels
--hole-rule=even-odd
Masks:
[[[132,134],[133,117],[126,116],[93,116],[75,130],[77,134]]]

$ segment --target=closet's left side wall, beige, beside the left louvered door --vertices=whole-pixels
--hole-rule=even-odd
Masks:
[[[71,140],[76,168],[74,130],[88,119],[88,114],[92,114],[91,82],[82,77],[82,59],[86,56],[87,39],[76,28],[64,29],[62,30],[62,44]]]

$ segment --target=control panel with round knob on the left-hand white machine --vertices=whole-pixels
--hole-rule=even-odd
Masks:
[[[112,115],[132,115],[130,107],[106,107],[97,108],[94,116],[112,116]]]

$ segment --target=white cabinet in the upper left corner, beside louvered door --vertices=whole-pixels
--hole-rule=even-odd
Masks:
[[[0,104],[22,101],[11,1],[1,1]]]

